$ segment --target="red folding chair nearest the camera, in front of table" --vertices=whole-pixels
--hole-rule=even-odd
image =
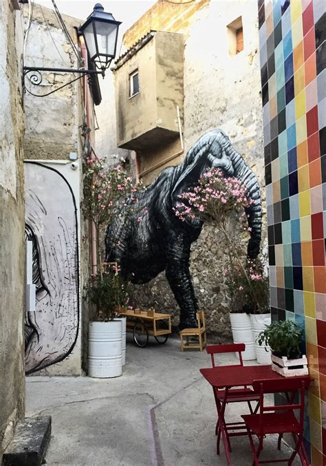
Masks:
[[[303,445],[303,419],[305,412],[305,388],[309,386],[309,377],[290,377],[281,380],[264,380],[254,381],[252,387],[254,391],[259,393],[259,413],[243,414],[241,416],[246,423],[248,436],[252,454],[254,456],[254,465],[261,463],[287,463],[292,465],[292,462],[298,454],[301,458],[301,463],[304,466],[309,466],[309,460]],[[265,405],[264,394],[270,393],[285,393],[287,405]],[[300,401],[294,402],[296,394],[300,392]],[[290,396],[291,395],[291,396]],[[294,410],[298,410],[297,416]],[[263,449],[263,438],[268,434],[279,434],[279,439],[285,433],[292,434],[296,443],[294,451],[290,458],[282,458],[280,460],[261,460],[259,462],[259,454]],[[252,441],[252,434],[258,436],[259,445],[256,449]]]

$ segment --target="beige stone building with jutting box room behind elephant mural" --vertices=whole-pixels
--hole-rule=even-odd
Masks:
[[[180,163],[202,134],[220,128],[256,173],[263,195],[257,3],[157,1],[123,43],[113,67],[117,144],[134,151],[138,178],[149,184]],[[230,337],[228,303],[219,293],[225,260],[219,233],[204,226],[193,244],[191,273],[208,330],[220,339]],[[164,275],[136,286],[133,300],[178,313]]]

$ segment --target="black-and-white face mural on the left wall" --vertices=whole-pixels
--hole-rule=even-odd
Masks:
[[[63,361],[78,336],[76,202],[56,169],[25,162],[25,239],[32,242],[36,311],[25,313],[27,374]]]

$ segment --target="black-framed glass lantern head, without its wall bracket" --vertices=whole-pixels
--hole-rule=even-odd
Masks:
[[[109,67],[116,56],[120,24],[120,21],[116,21],[111,13],[105,13],[100,3],[96,3],[94,11],[79,28],[84,36],[91,61],[102,72]]]

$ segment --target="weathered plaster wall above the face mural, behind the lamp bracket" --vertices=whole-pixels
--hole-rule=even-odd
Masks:
[[[24,8],[25,21],[28,6]],[[78,19],[63,15],[69,34],[76,43]],[[76,56],[63,30],[58,24],[54,11],[34,4],[32,21],[28,33],[25,53],[26,66],[74,68]],[[54,87],[72,81],[72,74],[43,74],[41,85],[33,86],[25,78],[26,87],[34,94],[47,94]],[[64,87],[47,97],[35,97],[25,93],[25,158],[69,158],[69,152],[80,152],[80,110],[78,96],[81,81]]]

